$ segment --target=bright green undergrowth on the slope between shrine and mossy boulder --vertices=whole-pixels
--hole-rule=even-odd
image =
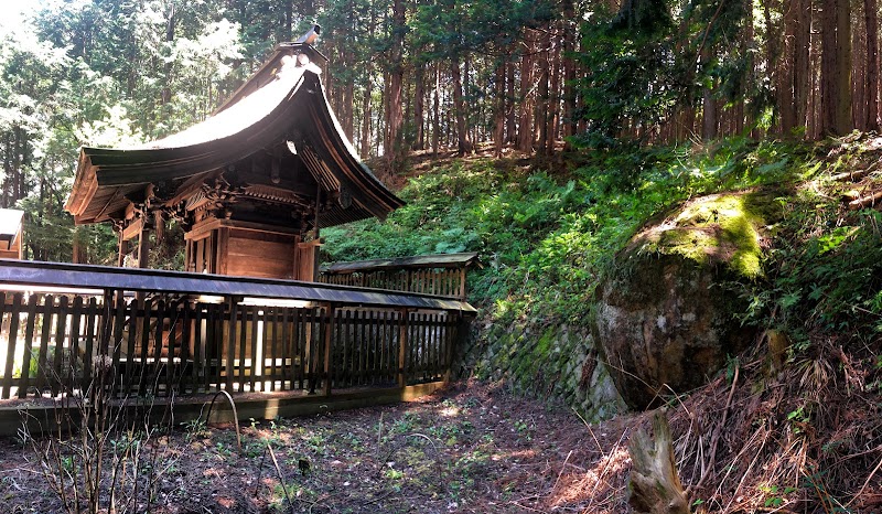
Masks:
[[[610,149],[584,159],[564,176],[507,161],[454,161],[411,179],[400,192],[408,205],[385,223],[323,232],[326,257],[480,251],[485,267],[471,274],[470,290],[494,319],[585,324],[598,277],[652,216],[695,195],[786,184],[807,169],[792,146],[744,139],[710,149]],[[757,212],[745,216],[781,208],[772,203],[752,204],[747,211]],[[755,235],[736,228],[731,237],[751,236],[756,250]],[[763,263],[747,265],[754,276]]]

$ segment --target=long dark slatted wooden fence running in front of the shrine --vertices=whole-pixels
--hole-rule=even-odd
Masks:
[[[117,397],[219,389],[331,395],[440,381],[472,312],[424,296],[195,274],[137,270],[126,286],[92,267],[76,268],[90,268],[88,287],[104,279],[100,289],[72,290],[57,283],[57,274],[3,288],[3,272],[12,272],[6,266],[0,398],[96,386]],[[132,287],[139,276],[142,287]],[[182,279],[186,287],[175,291]],[[47,286],[54,290],[41,291]]]

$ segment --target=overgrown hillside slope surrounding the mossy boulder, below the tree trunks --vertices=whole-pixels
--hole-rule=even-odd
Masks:
[[[882,504],[881,147],[729,140],[553,169],[447,160],[407,181],[408,205],[386,223],[327,231],[326,248],[332,260],[480,251],[481,315],[461,371],[600,420],[625,409],[592,335],[617,253],[689,199],[774,186],[782,214],[763,227],[759,269],[727,283],[742,300],[731,317],[756,335],[708,385],[662,398],[684,483],[714,512],[871,512]]]

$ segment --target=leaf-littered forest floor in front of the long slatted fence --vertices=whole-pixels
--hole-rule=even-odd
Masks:
[[[458,383],[409,404],[245,421],[241,451],[232,425],[178,427],[143,442],[137,481],[154,481],[152,513],[616,513],[639,418],[589,426],[560,405]],[[64,512],[49,482],[69,462],[44,464],[0,440],[4,512]],[[118,505],[131,497],[121,489]],[[146,502],[139,492],[138,512]]]

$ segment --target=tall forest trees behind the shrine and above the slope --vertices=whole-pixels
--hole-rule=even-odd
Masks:
[[[209,116],[312,23],[332,108],[384,179],[410,151],[550,154],[879,128],[876,0],[37,0],[0,30],[0,206],[28,255],[100,263],[63,213],[82,144]]]

